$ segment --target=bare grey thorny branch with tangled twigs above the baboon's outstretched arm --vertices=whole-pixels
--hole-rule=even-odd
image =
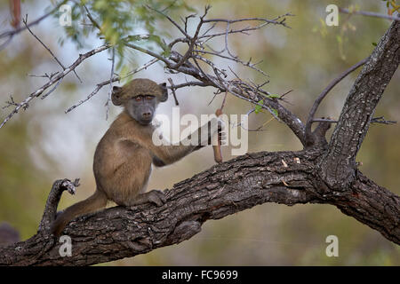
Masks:
[[[227,70],[224,70],[220,67],[217,67],[212,60],[207,59],[204,55],[212,55],[220,57],[221,59],[229,59],[233,60],[236,63],[240,63],[244,67],[250,67],[259,71],[262,75],[267,76],[262,70],[255,67],[258,63],[252,63],[251,59],[248,61],[244,61],[239,59],[232,52],[229,51],[228,47],[228,35],[241,33],[244,35],[248,35],[247,32],[252,30],[264,28],[269,24],[280,25],[285,28],[288,28],[285,23],[286,17],[292,16],[290,13],[286,13],[282,16],[276,17],[274,20],[262,19],[262,18],[245,18],[239,20],[224,20],[224,19],[205,19],[207,12],[210,7],[206,6],[204,9],[204,14],[199,17],[199,21],[196,25],[196,32],[194,36],[188,35],[186,28],[180,27],[180,25],[172,20],[171,17],[162,13],[167,20],[172,22],[172,25],[180,30],[180,32],[184,35],[184,37],[180,37],[174,39],[168,46],[171,48],[171,55],[168,58],[164,58],[159,54],[155,54],[154,51],[149,51],[144,49],[138,45],[132,43],[125,43],[127,47],[130,47],[136,51],[144,52],[150,56],[153,56],[156,59],[164,62],[165,67],[171,73],[182,73],[186,75],[193,76],[196,78],[199,83],[197,85],[201,86],[213,86],[217,89],[217,93],[225,93],[229,92],[230,94],[251,102],[252,104],[259,104],[262,100],[262,107],[267,109],[269,113],[276,117],[276,119],[285,122],[296,134],[298,138],[300,138],[301,142],[304,142],[304,125],[300,121],[300,119],[292,114],[288,109],[282,106],[279,103],[279,99],[271,98],[270,93],[263,89],[262,87],[268,82],[268,80],[261,84],[256,83],[246,83],[243,79],[237,76],[232,70],[233,78],[229,79]],[[154,9],[152,9],[154,11]],[[157,11],[156,11],[157,12]],[[193,17],[190,17],[193,18]],[[188,18],[184,20],[184,24],[187,25]],[[261,21],[262,23],[255,27],[247,27],[247,28],[231,28],[232,25],[239,22],[248,22],[248,21]],[[220,33],[219,31],[214,31],[214,28],[217,27],[217,24],[224,23],[226,24],[225,32]],[[205,30],[204,33],[200,36],[201,31]],[[215,51],[210,48],[207,42],[210,40],[224,36],[225,38],[225,48],[222,51]],[[181,55],[178,51],[173,50],[173,47],[176,43],[186,43],[188,44],[188,50]],[[196,46],[196,49],[194,47]],[[204,67],[201,67],[199,61],[203,62]],[[212,70],[212,72],[208,73],[207,69]],[[181,87],[186,87],[188,85],[193,85],[193,83],[182,83],[180,85],[174,85],[174,91]],[[281,99],[281,98],[280,98]]]

